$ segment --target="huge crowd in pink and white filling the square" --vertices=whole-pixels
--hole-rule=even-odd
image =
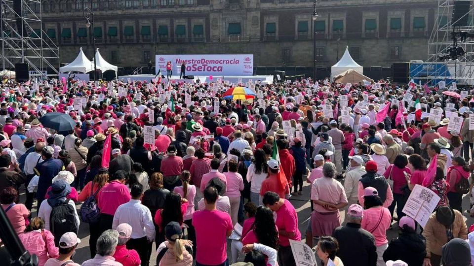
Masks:
[[[84,266],[296,266],[302,236],[323,266],[473,264],[472,91],[249,83],[3,81],[0,201],[26,250],[77,266],[88,224]],[[440,198],[424,226],[403,212],[416,186]]]

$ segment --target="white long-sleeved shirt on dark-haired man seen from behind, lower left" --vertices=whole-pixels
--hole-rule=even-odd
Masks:
[[[131,238],[137,239],[146,236],[149,241],[155,239],[152,213],[140,200],[130,199],[127,203],[118,206],[112,229],[117,229],[118,225],[123,223],[127,223],[132,227]]]

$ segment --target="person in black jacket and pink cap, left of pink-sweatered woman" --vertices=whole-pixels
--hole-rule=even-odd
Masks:
[[[345,262],[354,262],[356,266],[376,266],[377,246],[375,237],[365,229],[361,228],[364,208],[358,204],[352,204],[347,211],[347,224],[334,230],[332,236],[339,242],[339,250],[336,253]],[[357,245],[354,245],[357,243]],[[357,261],[354,261],[357,258]]]

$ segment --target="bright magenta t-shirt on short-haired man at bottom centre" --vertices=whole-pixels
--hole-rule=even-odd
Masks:
[[[227,233],[232,231],[231,216],[219,210],[201,210],[193,214],[196,229],[196,262],[220,265],[227,260]]]

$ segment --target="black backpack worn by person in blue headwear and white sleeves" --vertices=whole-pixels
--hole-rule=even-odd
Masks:
[[[59,246],[59,239],[64,233],[78,233],[79,225],[76,221],[75,208],[76,206],[69,204],[69,199],[65,199],[64,202],[52,207],[49,215],[49,231],[54,235],[56,246]]]

